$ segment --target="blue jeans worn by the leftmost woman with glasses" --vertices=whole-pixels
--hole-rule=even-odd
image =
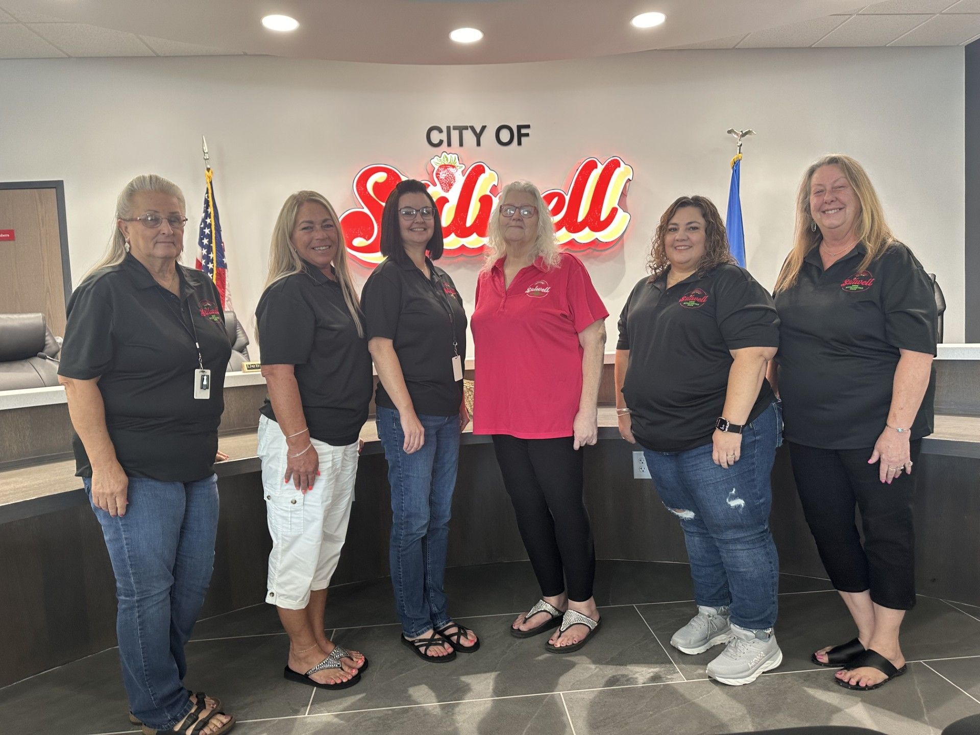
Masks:
[[[89,503],[92,480],[84,478]],[[92,510],[116,573],[116,636],[129,709],[168,730],[191,710],[184,644],[215,561],[218,477],[194,482],[129,478],[125,515]]]

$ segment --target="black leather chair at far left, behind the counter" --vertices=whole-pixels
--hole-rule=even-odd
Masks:
[[[43,314],[0,314],[0,390],[58,385],[60,352]]]

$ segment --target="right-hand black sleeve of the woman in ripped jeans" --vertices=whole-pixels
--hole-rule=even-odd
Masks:
[[[779,317],[768,291],[742,270],[719,275],[715,319],[725,346],[779,347]]]

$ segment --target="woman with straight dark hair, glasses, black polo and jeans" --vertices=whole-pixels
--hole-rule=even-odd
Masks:
[[[466,312],[442,256],[439,212],[425,185],[408,179],[381,215],[381,255],[361,296],[368,350],[379,379],[377,433],[391,485],[391,583],[402,642],[429,662],[479,648],[446,612],[443,577],[456,487]]]

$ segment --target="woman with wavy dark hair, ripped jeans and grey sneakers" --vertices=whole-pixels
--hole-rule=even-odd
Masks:
[[[619,316],[616,415],[684,531],[698,613],[670,645],[701,654],[725,643],[708,675],[749,684],[783,660],[769,532],[782,421],[765,380],[779,319],[765,289],[735,265],[706,197],[667,208],[647,267]]]

